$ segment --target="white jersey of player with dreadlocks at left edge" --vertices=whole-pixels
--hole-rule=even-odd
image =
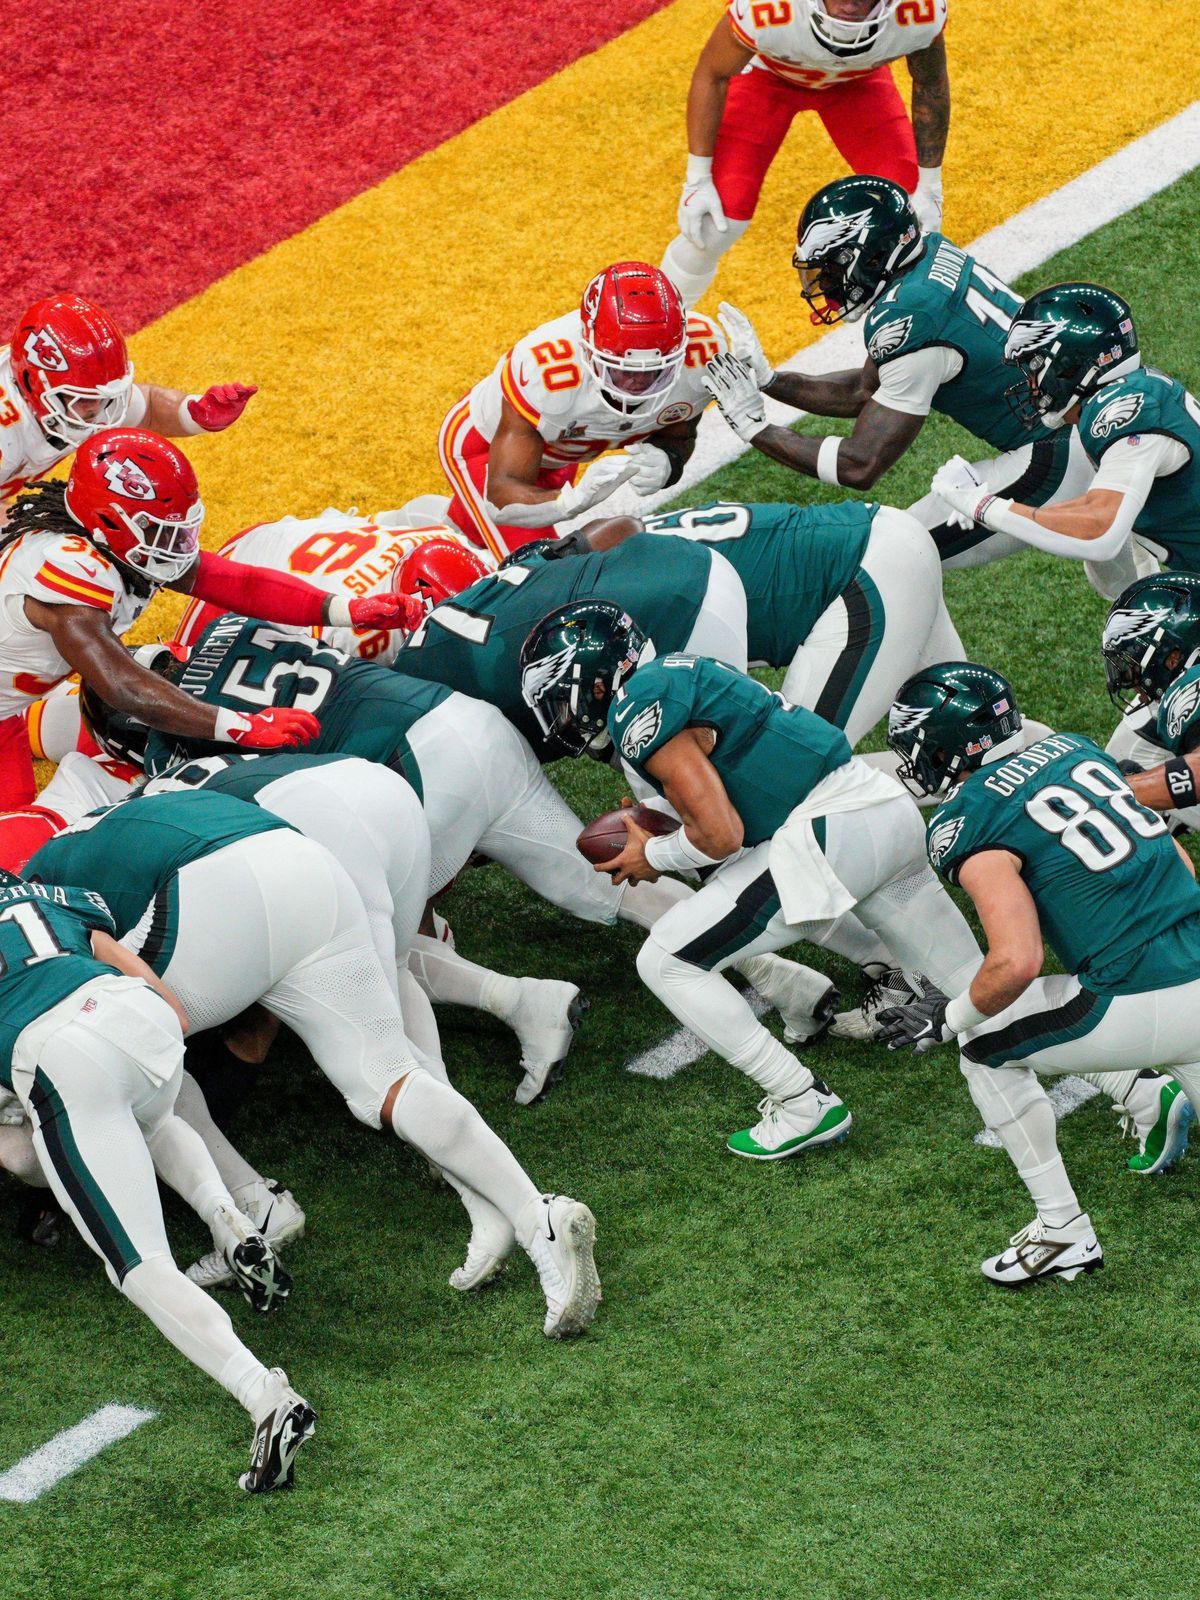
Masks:
[[[90,605],[120,635],[154,598],[130,594],[120,571],[78,534],[22,533],[0,552],[0,717],[24,710],[70,675],[70,666],[26,616],[26,597]]]

